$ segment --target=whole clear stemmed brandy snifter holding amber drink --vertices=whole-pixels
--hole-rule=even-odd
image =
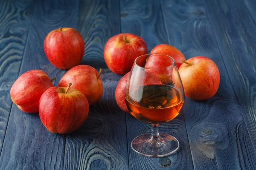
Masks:
[[[150,69],[148,58],[165,59],[167,67]],[[137,136],[132,149],[141,155],[161,157],[175,153],[178,140],[159,133],[158,125],[169,122],[179,113],[184,103],[184,90],[175,60],[165,54],[146,54],[138,57],[131,70],[125,91],[126,105],[136,119],[151,125],[151,133]]]

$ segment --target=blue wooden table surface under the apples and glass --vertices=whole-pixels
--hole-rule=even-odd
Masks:
[[[255,0],[0,0],[0,169],[255,170]],[[75,133],[50,133],[38,114],[20,111],[10,98],[18,76],[41,69],[58,85],[65,70],[49,63],[44,38],[72,27],[84,38],[82,64],[103,68],[104,94]],[[160,131],[180,141],[177,154],[148,158],[131,150],[134,137],[150,131],[119,109],[115,88],[122,77],[103,58],[115,34],[142,37],[148,52],[170,44],[186,59],[206,56],[221,82],[206,101],[186,98]]]

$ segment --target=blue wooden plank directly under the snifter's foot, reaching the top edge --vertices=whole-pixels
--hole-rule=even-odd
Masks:
[[[166,32],[168,28],[164,25],[160,1],[121,0],[121,16],[122,32],[129,32],[142,37],[148,45],[148,52],[150,52],[155,45],[161,43],[168,44]],[[179,48],[179,46],[177,46],[177,48]],[[127,114],[126,118],[130,169],[193,169],[183,113],[180,113],[172,121],[160,125],[159,128],[160,132],[175,136],[181,145],[177,154],[166,157],[166,159],[170,159],[171,161],[171,165],[167,167],[160,164],[163,158],[141,156],[131,149],[131,141],[140,134],[150,133],[151,127],[150,125],[138,121],[131,115]]]

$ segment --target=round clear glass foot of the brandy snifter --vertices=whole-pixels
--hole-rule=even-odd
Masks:
[[[131,142],[131,148],[140,155],[148,157],[162,157],[177,152],[180,147],[179,141],[166,133],[159,133],[160,140],[152,142],[151,133],[137,136]]]

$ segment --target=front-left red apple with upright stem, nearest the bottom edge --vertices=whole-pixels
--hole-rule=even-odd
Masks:
[[[85,121],[89,104],[76,89],[52,87],[41,96],[39,116],[43,125],[52,133],[71,133]]]

